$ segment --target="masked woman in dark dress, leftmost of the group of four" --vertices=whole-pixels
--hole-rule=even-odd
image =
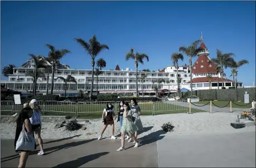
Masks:
[[[104,133],[104,131],[107,129],[108,125],[111,125],[111,129],[112,129],[112,136],[111,139],[117,139],[117,137],[114,136],[114,119],[113,119],[113,115],[114,114],[114,110],[113,110],[114,106],[111,103],[107,104],[107,108],[104,108],[103,113],[102,113],[102,120],[104,122],[104,126],[102,129],[102,133],[100,134],[98,140],[102,139],[102,135]],[[104,117],[105,115],[105,117]]]

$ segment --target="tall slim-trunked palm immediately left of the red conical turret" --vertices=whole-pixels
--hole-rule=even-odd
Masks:
[[[178,48],[178,51],[185,53],[187,56],[189,56],[189,67],[190,67],[190,95],[192,95],[192,57],[197,56],[199,52],[204,51],[204,48],[198,47],[200,40],[196,40],[190,45],[189,47],[180,47]]]

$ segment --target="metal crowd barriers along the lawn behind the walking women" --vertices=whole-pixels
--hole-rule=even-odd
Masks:
[[[29,101],[27,101],[29,103]],[[47,112],[47,115],[60,115],[58,113],[94,113],[103,112],[104,108],[107,107],[109,101],[95,101],[95,102],[71,102],[71,101],[38,101],[42,112]],[[114,111],[117,114],[119,101],[110,102],[114,106]],[[154,115],[156,112],[165,113],[168,111],[182,111],[187,112],[188,107],[183,106],[182,101],[173,101],[169,103],[168,101],[138,101],[138,106],[141,108],[141,112],[152,113]],[[1,101],[1,113],[2,115],[12,115],[16,112],[21,111],[23,105],[15,105],[13,101]]]

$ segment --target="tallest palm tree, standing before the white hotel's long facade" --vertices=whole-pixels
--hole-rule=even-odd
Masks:
[[[94,72],[94,66],[95,66],[95,57],[99,55],[100,52],[102,52],[105,49],[109,50],[109,47],[107,45],[101,44],[97,38],[96,35],[93,36],[93,38],[89,39],[89,42],[84,41],[84,39],[81,38],[75,38],[75,41],[81,45],[86,52],[91,56],[91,71]],[[94,73],[92,74],[92,77],[94,78]],[[91,95],[93,95],[93,80],[91,81],[91,91],[90,91],[90,100]]]

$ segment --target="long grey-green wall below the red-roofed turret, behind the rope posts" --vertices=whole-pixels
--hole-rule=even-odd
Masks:
[[[192,95],[203,100],[244,101],[245,92],[249,94],[249,101],[256,101],[256,88],[197,90],[192,91]]]

